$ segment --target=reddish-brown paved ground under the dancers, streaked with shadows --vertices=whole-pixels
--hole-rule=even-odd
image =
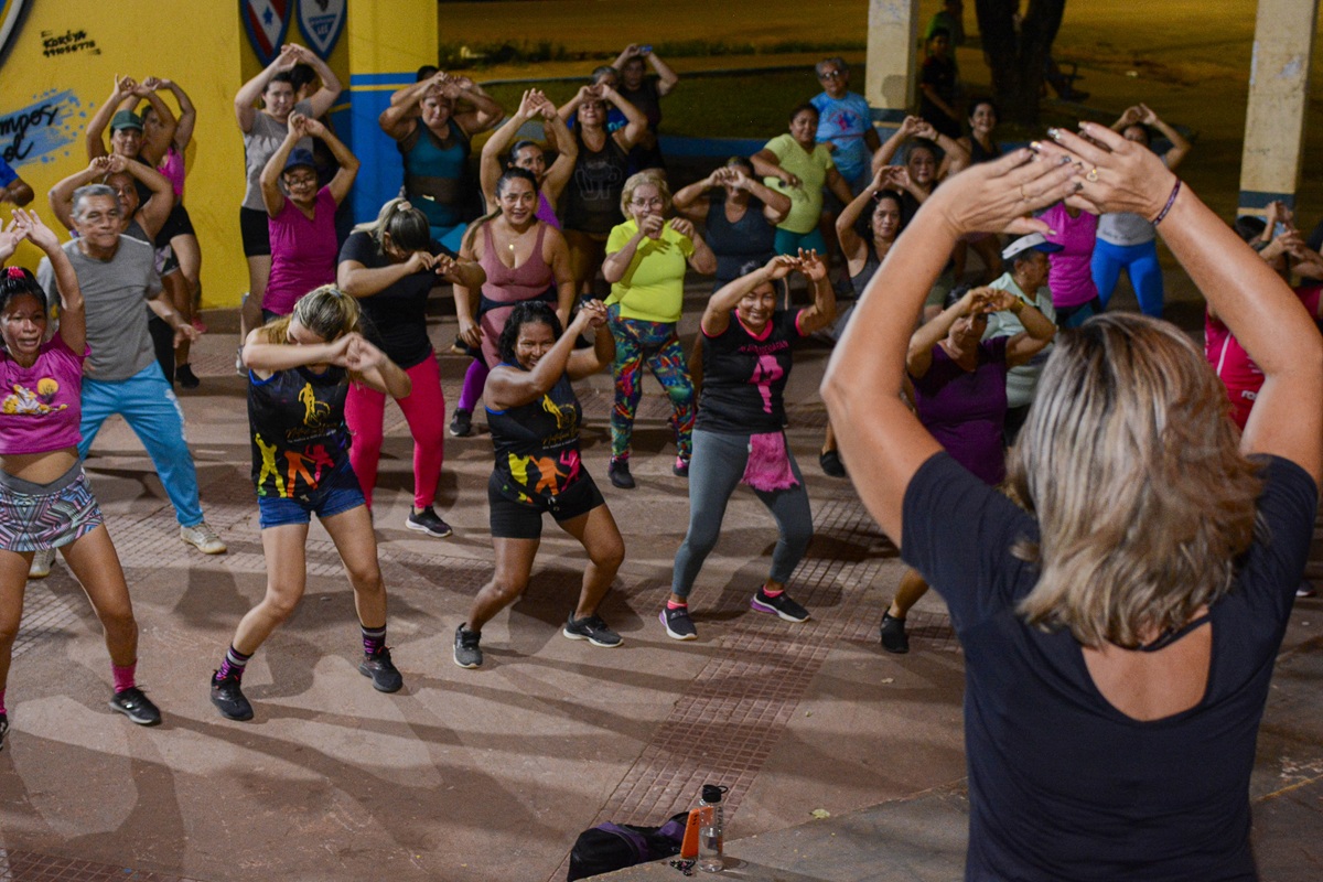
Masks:
[[[693,290],[688,335],[700,299]],[[1175,315],[1192,315],[1187,291],[1176,286],[1174,299]],[[452,336],[451,319],[434,321],[438,348]],[[249,669],[257,719],[232,723],[206,701],[205,682],[265,586],[233,345],[233,335],[205,337],[196,358],[204,385],[181,395],[204,506],[229,554],[205,558],[179,542],[123,424],[107,424],[89,460],[128,573],[140,678],[165,713],[161,727],[134,727],[106,707],[105,649],[62,565],[29,584],[8,692],[13,729],[0,754],[0,879],[550,882],[564,878],[579,830],[660,822],[705,782],[730,787],[737,878],[959,875],[962,659],[933,595],[913,614],[912,655],[877,645],[901,563],[851,487],[816,468],[826,348],[800,352],[790,390],[790,438],[818,530],[792,581],[810,623],[749,611],[774,526],[741,492],[695,596],[701,639],[665,637],[655,616],[688,505],[669,473],[663,398],[650,385],[640,488],[605,488],[628,559],[603,614],[626,645],[560,636],[582,558],[550,530],[527,598],[484,633],[487,665],[454,666],[451,633],[491,574],[490,440],[447,440],[438,508],[456,534],[421,538],[402,529],[410,443],[392,407],[377,534],[405,690],[374,693],[356,672],[351,592],[316,530],[304,603]],[[464,366],[442,357],[451,401]],[[581,385],[585,460],[599,479],[607,385],[605,376]],[[1311,566],[1323,578],[1323,566]],[[1323,603],[1302,602],[1265,725],[1257,817],[1279,820],[1297,848],[1274,848],[1269,879],[1318,878],[1318,852],[1307,849],[1323,829],[1323,719],[1312,692],[1320,624]],[[810,824],[815,809],[832,820]],[[1308,861],[1314,871],[1301,875]]]

